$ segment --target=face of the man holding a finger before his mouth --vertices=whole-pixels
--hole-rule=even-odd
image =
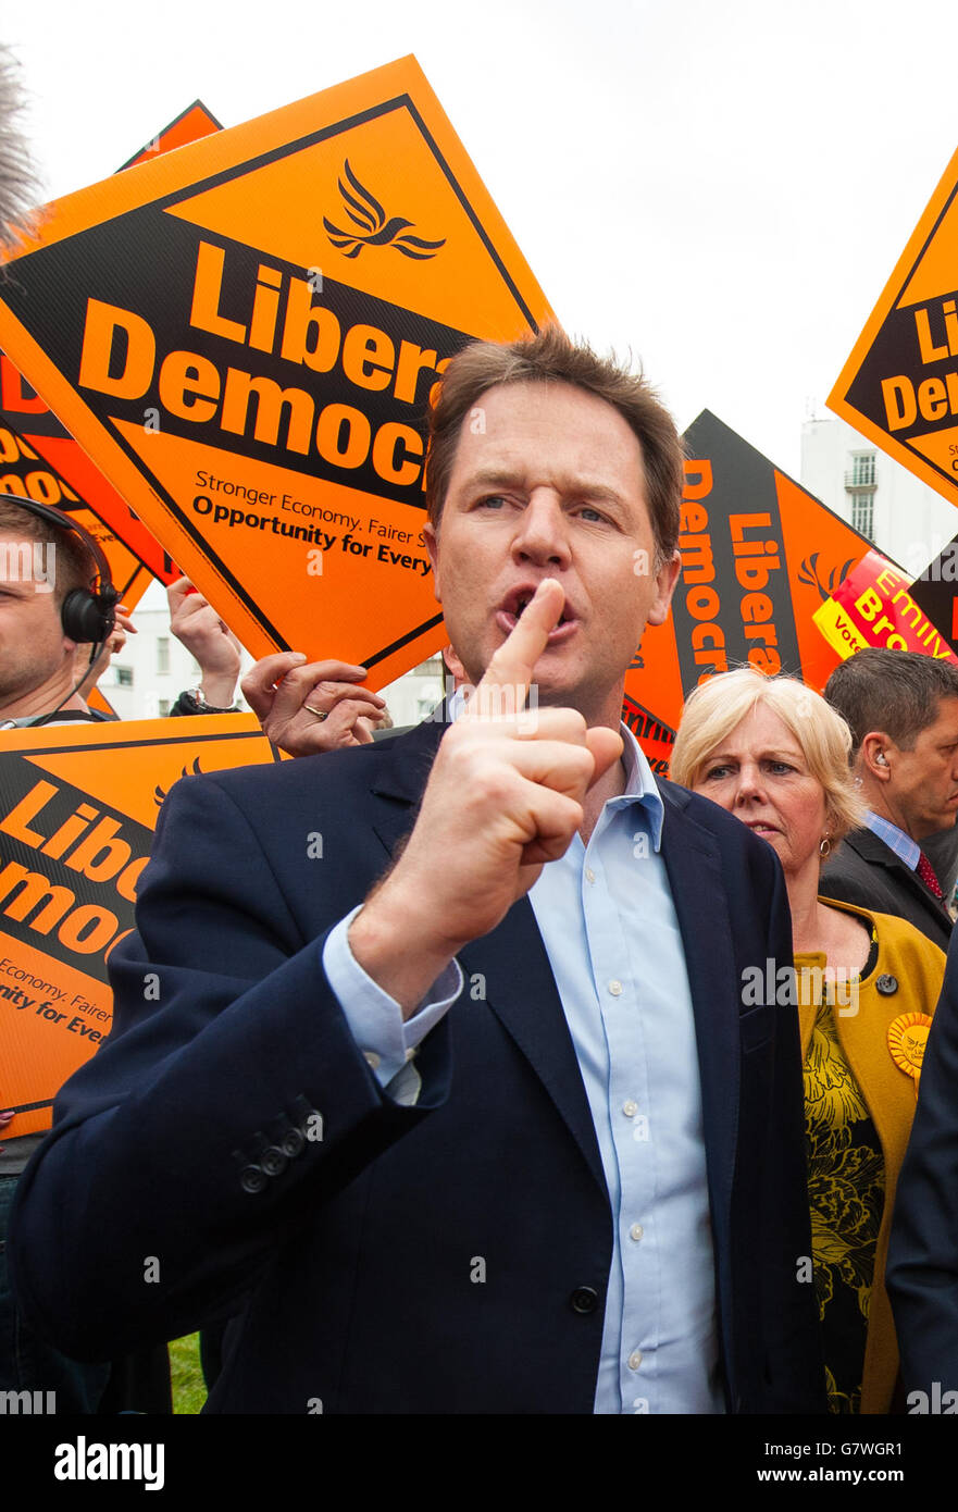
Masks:
[[[668,614],[678,561],[654,572],[642,451],[612,405],[565,383],[490,389],[462,422],[426,540],[473,683],[555,578],[565,611],[535,670],[538,699],[618,720],[626,670],[645,624]]]

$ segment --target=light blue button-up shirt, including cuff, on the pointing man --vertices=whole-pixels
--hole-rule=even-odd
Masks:
[[[660,854],[663,804],[632,732],[627,785],[529,894],[585,1084],[613,1220],[595,1412],[722,1412],[695,1021]],[[379,1083],[416,1101],[416,1046],[462,989],[450,963],[420,1010],[354,959],[354,910],[323,968]]]

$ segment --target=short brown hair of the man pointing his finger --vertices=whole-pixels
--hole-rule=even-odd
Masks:
[[[473,342],[443,373],[429,410],[426,508],[432,525],[440,526],[462,420],[487,390],[509,383],[565,383],[618,410],[642,452],[656,552],[659,564],[668,561],[678,540],[685,482],[675,422],[641,373],[597,357],[583,342],[570,342],[555,325],[520,342]]]

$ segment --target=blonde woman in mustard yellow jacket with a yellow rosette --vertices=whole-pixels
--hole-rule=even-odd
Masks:
[[[740,818],[781,862],[828,1400],[834,1412],[888,1412],[898,1346],[884,1264],[944,956],[905,919],[817,895],[822,862],[861,821],[849,750],[848,726],[819,694],[742,668],[689,697],[671,777]]]

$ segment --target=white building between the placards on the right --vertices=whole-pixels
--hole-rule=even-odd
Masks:
[[[836,414],[802,425],[801,484],[913,578],[958,535],[958,510]]]

